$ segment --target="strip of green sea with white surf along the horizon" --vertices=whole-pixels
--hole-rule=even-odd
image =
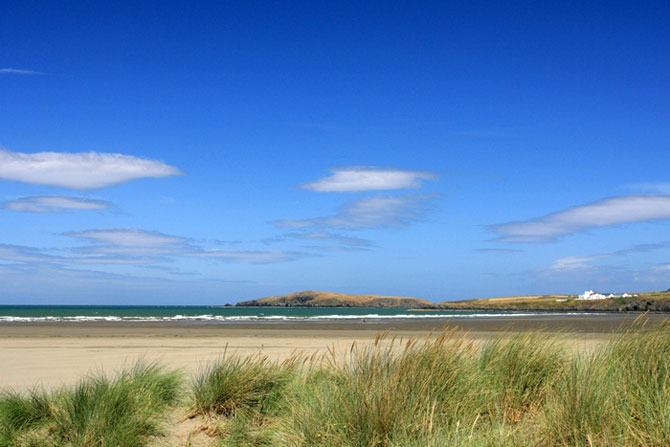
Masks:
[[[503,316],[581,315],[556,312],[412,310],[402,308],[218,307],[218,306],[31,306],[0,305],[0,325],[31,322],[386,321]]]

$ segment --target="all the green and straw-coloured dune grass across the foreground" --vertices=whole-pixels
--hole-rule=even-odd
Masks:
[[[574,338],[574,337],[573,337]],[[346,356],[224,355],[190,383],[156,365],[52,393],[5,392],[0,446],[160,444],[170,406],[220,446],[668,446],[670,327],[588,352],[542,332],[473,343],[380,336]]]

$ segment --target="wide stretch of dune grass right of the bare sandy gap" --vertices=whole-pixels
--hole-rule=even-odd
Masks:
[[[223,406],[194,393],[194,407],[226,409],[216,430],[222,446],[670,445],[668,325],[640,323],[589,352],[567,343],[524,332],[474,344],[451,331],[404,342],[382,336],[344,359],[330,353],[299,368],[224,359],[197,383],[217,388],[222,368],[226,377],[260,368],[251,383],[264,385],[246,396],[235,385],[234,403]],[[270,411],[258,398],[263,387]]]

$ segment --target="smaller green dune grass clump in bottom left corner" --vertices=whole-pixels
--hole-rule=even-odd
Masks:
[[[140,447],[160,434],[181,379],[138,363],[115,377],[90,376],[73,388],[0,397],[0,446]]]

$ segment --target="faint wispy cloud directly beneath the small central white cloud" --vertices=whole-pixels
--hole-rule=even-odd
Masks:
[[[279,228],[330,227],[358,230],[399,227],[425,218],[434,194],[376,195],[345,204],[332,216],[284,219],[272,222]]]

